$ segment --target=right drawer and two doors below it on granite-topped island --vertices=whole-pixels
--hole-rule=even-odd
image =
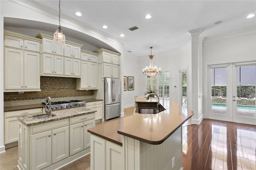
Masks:
[[[90,147],[90,135],[87,129],[95,127],[94,117],[95,115],[91,114],[70,119],[70,124],[75,123],[70,125],[70,156]]]

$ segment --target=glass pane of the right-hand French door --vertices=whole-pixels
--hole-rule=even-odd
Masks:
[[[237,116],[255,115],[255,65],[237,67]]]

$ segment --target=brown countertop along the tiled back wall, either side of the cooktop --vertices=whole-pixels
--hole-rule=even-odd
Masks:
[[[57,101],[57,99],[54,99],[54,100]],[[85,100],[82,100],[82,101],[94,102],[94,101],[102,101],[102,99],[85,99]],[[35,105],[23,105],[23,106],[4,107],[4,112],[20,111],[20,110],[36,109],[36,108],[44,108],[44,106],[42,106],[41,104],[35,104]]]

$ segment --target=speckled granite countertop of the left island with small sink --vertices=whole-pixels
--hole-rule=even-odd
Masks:
[[[68,119],[70,117],[76,117],[81,115],[86,115],[90,113],[95,113],[92,109],[86,109],[85,106],[83,107],[76,107],[76,108],[70,108],[70,109],[62,109],[59,111],[52,111],[52,118],[43,118],[43,119],[36,119],[35,116],[45,115],[46,113],[38,113],[38,114],[32,114],[32,115],[24,115],[20,116],[17,119],[24,123],[27,126],[33,126],[38,125],[41,123],[47,123],[50,121],[58,121],[61,119]]]

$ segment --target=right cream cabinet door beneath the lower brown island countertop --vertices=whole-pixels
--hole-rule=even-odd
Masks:
[[[124,170],[123,153],[124,151],[122,146],[106,141],[106,169]]]

